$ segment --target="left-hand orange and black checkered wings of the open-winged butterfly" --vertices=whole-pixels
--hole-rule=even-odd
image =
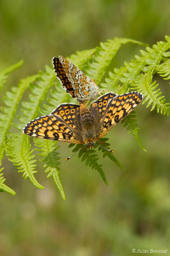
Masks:
[[[79,134],[78,123],[73,117],[75,114],[70,114],[72,109],[76,111],[74,106],[69,106],[68,104],[66,108],[66,104],[61,104],[56,109],[56,112],[52,112],[54,114],[40,116],[29,122],[26,127],[24,127],[23,132],[36,138],[58,140],[77,144],[83,143]],[[58,113],[58,115],[56,115],[56,113]]]

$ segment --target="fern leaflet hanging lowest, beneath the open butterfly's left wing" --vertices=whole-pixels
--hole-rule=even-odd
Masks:
[[[56,183],[56,186],[61,193],[61,196],[63,199],[66,198],[65,191],[63,189],[63,185],[61,184],[61,180],[59,179],[59,153],[56,152],[56,150],[59,148],[57,145],[58,141],[49,141],[49,140],[36,140],[35,139],[35,145],[36,150],[40,151],[38,154],[39,156],[42,156],[43,158],[41,161],[45,162],[43,165],[44,168],[46,168],[45,173],[48,173],[47,178],[52,177],[54,179],[54,182]]]

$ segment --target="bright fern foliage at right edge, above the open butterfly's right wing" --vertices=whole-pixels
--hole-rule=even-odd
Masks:
[[[127,90],[137,90],[143,93],[146,99],[143,104],[148,102],[146,108],[151,106],[151,111],[157,108],[157,112],[169,115],[169,103],[160,92],[155,90],[158,86],[156,81],[152,83],[153,74],[161,76],[169,74],[169,57],[170,57],[170,37],[166,36],[167,42],[157,42],[153,47],[146,47],[146,51],[141,50],[141,56],[135,56],[135,61],[125,62],[125,66],[114,68],[109,73],[109,79],[102,84],[107,90],[114,90],[117,93],[124,93]],[[161,65],[160,65],[161,63]],[[165,63],[165,65],[164,65]],[[121,83],[121,84],[118,84]]]

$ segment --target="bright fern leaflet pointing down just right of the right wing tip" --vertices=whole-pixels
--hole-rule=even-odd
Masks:
[[[143,93],[144,100],[143,104],[147,103],[146,108],[151,106],[151,111],[157,108],[157,113],[164,114],[169,116],[170,113],[170,106],[169,103],[165,103],[166,99],[164,96],[160,96],[162,92],[160,89],[157,89],[158,84],[156,81],[151,83],[152,81],[152,74],[148,72],[146,74],[141,74],[135,83],[132,86],[132,90],[138,90],[139,92]],[[157,89],[157,90],[156,90]]]

